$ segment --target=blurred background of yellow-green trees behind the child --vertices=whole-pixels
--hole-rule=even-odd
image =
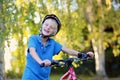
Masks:
[[[91,61],[73,64],[78,79],[120,80],[120,0],[0,0],[0,80],[21,80],[28,37],[40,33],[46,14],[61,20],[56,41],[95,54]],[[61,52],[53,59],[68,57]],[[66,71],[53,67],[51,80]]]

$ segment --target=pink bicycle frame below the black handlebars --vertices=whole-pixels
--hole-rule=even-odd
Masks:
[[[70,67],[69,70],[60,78],[60,80],[77,80],[73,67]]]

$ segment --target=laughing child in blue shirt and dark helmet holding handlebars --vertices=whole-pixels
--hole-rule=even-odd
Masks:
[[[75,50],[71,50],[62,46],[51,36],[56,35],[61,28],[61,22],[54,14],[46,15],[42,22],[41,33],[32,35],[29,38],[27,63],[24,70],[22,80],[50,80],[52,57],[60,51],[64,51],[69,55],[82,57],[85,54]],[[90,58],[94,56],[92,52],[88,52]],[[45,67],[40,65],[44,63]]]

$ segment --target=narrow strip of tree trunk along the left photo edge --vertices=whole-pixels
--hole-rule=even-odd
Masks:
[[[3,15],[2,13],[3,7],[2,7],[2,1],[0,1],[0,15]],[[5,80],[4,76],[4,54],[3,54],[3,16],[0,16],[0,80]]]

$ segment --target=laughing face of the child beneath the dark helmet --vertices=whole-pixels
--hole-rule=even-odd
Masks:
[[[45,36],[54,35],[57,32],[57,22],[53,19],[46,19],[42,25],[42,33]]]

